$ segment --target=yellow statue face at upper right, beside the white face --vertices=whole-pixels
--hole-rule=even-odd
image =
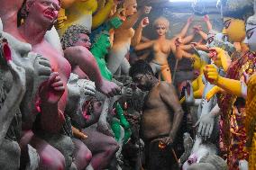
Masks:
[[[234,18],[224,19],[224,34],[233,42],[242,42],[245,38],[245,24]]]

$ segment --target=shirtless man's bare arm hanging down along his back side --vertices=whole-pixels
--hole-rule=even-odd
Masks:
[[[160,97],[164,103],[166,103],[174,111],[172,129],[169,131],[169,137],[175,139],[180,122],[182,121],[183,111],[180,103],[178,102],[178,96],[172,85],[163,84],[160,86]]]

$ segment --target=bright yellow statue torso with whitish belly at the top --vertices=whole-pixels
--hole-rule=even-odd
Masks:
[[[62,0],[56,24],[60,36],[73,24],[80,24],[91,30],[105,22],[114,6],[114,0],[103,1]]]

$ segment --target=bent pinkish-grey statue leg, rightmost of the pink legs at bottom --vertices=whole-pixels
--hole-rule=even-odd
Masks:
[[[106,168],[119,148],[117,142],[114,138],[98,132],[95,127],[87,128],[84,132],[88,135],[84,143],[93,154],[91,165],[96,170]]]

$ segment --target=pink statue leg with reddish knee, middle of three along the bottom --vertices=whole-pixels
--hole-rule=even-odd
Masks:
[[[87,146],[79,139],[72,139],[75,144],[75,165],[78,170],[85,169],[92,159],[92,153]]]

